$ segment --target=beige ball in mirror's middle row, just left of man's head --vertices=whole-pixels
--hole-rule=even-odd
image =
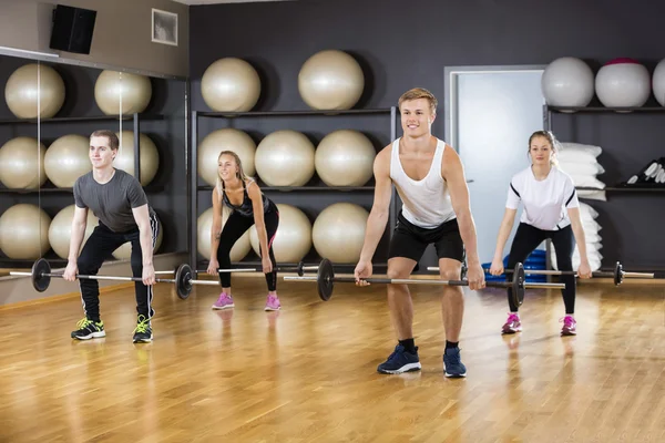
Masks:
[[[90,138],[82,135],[63,135],[51,143],[44,156],[44,172],[57,187],[73,187],[74,182],[92,171]]]

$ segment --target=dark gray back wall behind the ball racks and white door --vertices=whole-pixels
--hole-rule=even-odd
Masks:
[[[192,106],[208,110],[200,89],[206,66],[223,56],[239,56],[263,76],[263,96],[256,110],[305,110],[297,90],[301,64],[320,50],[340,49],[356,56],[366,72],[366,93],[358,106],[395,105],[403,91],[424,86],[438,96],[442,114],[446,66],[546,64],[573,55],[587,60],[594,69],[618,56],[635,58],[653,69],[665,58],[664,12],[665,6],[647,0],[320,0],[197,6],[190,11]],[[440,115],[433,125],[440,137],[443,122]],[[603,146],[600,162],[607,173],[600,178],[607,184],[627,178],[663,155],[658,142],[665,132],[663,122],[665,114],[553,119],[562,141]],[[587,200],[601,214],[604,266],[621,259],[626,267],[665,267],[661,253],[665,236],[659,235],[656,222],[665,217],[663,196],[612,193],[606,203]],[[303,198],[307,198],[305,205],[313,199]],[[358,196],[358,202],[365,200]],[[429,264],[431,258],[429,254],[423,261]]]

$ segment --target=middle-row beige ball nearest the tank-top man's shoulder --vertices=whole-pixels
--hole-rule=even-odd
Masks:
[[[372,176],[376,155],[372,143],[362,133],[339,130],[319,142],[314,165],[328,186],[362,186]]]

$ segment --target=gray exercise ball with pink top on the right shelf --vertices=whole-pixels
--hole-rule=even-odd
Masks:
[[[646,68],[633,59],[612,60],[596,74],[596,95],[607,107],[642,106],[651,94]]]

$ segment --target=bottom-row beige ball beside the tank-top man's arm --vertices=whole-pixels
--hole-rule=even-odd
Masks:
[[[352,203],[336,203],[316,217],[311,238],[320,257],[355,264],[360,258],[369,212]]]

